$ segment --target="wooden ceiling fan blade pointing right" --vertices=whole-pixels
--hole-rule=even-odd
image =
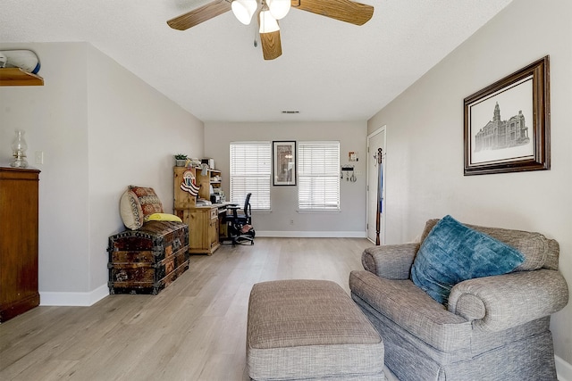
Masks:
[[[364,25],[374,15],[373,6],[350,0],[291,0],[291,5],[302,11],[355,25]]]

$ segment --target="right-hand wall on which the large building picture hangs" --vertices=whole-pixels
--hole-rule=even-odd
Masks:
[[[540,231],[559,241],[560,271],[572,286],[571,20],[568,0],[515,0],[368,121],[368,131],[387,125],[388,244],[414,240],[426,219],[446,214]],[[546,54],[551,170],[464,177],[463,99]],[[572,363],[572,302],[553,315],[551,330],[556,355]]]

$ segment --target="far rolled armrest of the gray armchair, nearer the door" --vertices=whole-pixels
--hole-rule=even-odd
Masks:
[[[361,255],[361,263],[378,277],[408,279],[419,246],[410,243],[369,247]]]

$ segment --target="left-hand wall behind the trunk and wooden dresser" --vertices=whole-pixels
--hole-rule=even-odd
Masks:
[[[172,211],[172,154],[202,155],[203,123],[87,43],[1,44],[34,50],[44,87],[0,87],[0,165],[26,130],[40,173],[42,304],[105,296],[107,237],[123,229],[119,198],[153,186]],[[44,152],[44,164],[34,153]]]

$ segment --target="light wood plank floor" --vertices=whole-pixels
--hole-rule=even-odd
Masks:
[[[0,325],[1,380],[247,380],[248,294],[257,282],[329,279],[348,293],[359,238],[265,238],[191,256],[158,295],[38,307]]]

